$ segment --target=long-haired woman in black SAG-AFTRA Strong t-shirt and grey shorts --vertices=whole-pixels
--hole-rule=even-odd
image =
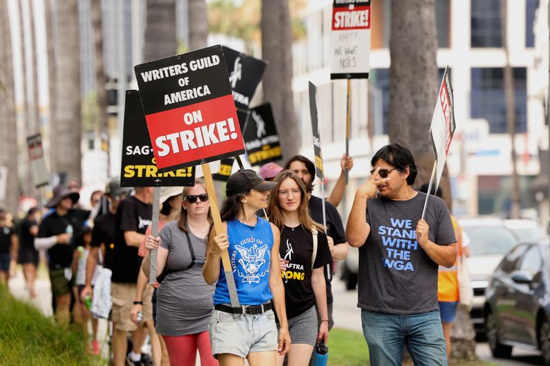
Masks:
[[[329,338],[327,293],[323,268],[332,260],[327,236],[309,216],[308,195],[296,173],[284,170],[275,179],[267,217],[281,230],[279,253],[286,264],[285,303],[292,345],[288,366],[307,365],[318,339]],[[321,323],[318,326],[315,306]],[[277,359],[283,364],[283,357]]]

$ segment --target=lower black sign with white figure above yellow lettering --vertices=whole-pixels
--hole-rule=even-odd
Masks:
[[[263,165],[283,159],[271,104],[250,109],[243,129],[243,139],[250,165]]]

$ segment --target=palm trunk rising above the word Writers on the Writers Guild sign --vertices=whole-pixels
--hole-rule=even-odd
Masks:
[[[143,45],[144,62],[176,54],[175,0],[148,0]]]

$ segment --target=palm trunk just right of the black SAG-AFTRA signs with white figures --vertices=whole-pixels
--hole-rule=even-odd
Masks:
[[[273,108],[281,135],[283,159],[300,150],[292,93],[292,24],[288,0],[262,1],[262,58],[269,62],[263,74],[263,100]]]

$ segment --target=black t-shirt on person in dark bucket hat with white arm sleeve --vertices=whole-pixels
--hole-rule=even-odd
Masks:
[[[46,216],[39,226],[38,238],[50,238],[67,231],[67,225],[73,227],[73,239],[69,245],[55,244],[48,249],[50,256],[50,268],[60,269],[71,266],[74,251],[74,238],[84,227],[85,220],[90,216],[90,211],[84,209],[69,209],[67,214],[59,216],[57,212]]]

